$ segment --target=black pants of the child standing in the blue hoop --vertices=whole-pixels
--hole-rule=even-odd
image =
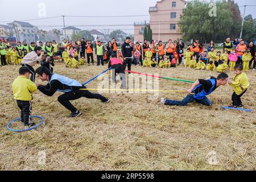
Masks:
[[[31,102],[30,101],[16,101],[18,107],[20,109],[20,118],[21,122],[24,123],[25,126],[29,125],[30,115],[31,115]]]

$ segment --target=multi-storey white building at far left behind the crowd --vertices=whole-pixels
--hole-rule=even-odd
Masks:
[[[38,27],[33,26],[27,22],[14,21],[12,23],[7,23],[9,30],[14,33],[16,40],[22,42],[26,41],[27,43],[36,42],[38,36]]]

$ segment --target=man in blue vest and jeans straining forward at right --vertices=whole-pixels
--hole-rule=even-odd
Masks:
[[[217,78],[210,77],[208,80],[199,79],[187,90],[188,95],[182,101],[166,100],[162,98],[161,102],[164,105],[177,106],[186,106],[188,103],[198,102],[206,106],[211,106],[212,102],[210,102],[207,96],[216,90],[218,86],[226,85],[228,77],[226,73],[221,73]]]

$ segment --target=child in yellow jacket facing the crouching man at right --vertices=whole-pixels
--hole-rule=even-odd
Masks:
[[[234,67],[235,75],[232,77],[232,80],[229,81],[229,85],[234,88],[234,93],[232,95],[232,106],[230,107],[243,107],[241,97],[250,86],[248,77],[245,73],[243,73],[243,66],[241,64],[237,64]]]

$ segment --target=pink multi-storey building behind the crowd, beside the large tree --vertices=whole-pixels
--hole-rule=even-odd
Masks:
[[[184,0],[161,0],[156,2],[154,7],[149,8],[150,22],[134,23],[134,40],[143,41],[144,27],[148,23],[150,23],[154,40],[167,42],[169,39],[182,38],[177,23],[179,23],[185,4],[186,1]]]

